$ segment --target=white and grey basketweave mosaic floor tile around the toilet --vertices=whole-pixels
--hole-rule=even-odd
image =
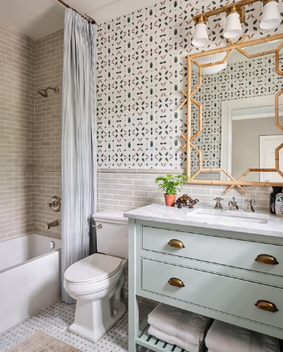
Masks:
[[[124,300],[124,303],[127,302]],[[140,320],[144,320],[153,307],[140,304]],[[73,322],[75,304],[61,301],[41,310],[0,334],[0,352],[6,352],[36,330],[42,330],[55,338],[85,352],[126,352],[128,349],[128,309],[126,314],[96,343],[68,331]],[[143,348],[140,352],[144,352]]]

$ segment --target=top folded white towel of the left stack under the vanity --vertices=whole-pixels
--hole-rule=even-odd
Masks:
[[[199,345],[210,318],[160,303],[148,314],[147,321],[166,334],[178,336],[192,345]]]

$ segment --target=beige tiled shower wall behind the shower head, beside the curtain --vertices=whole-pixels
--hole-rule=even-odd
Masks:
[[[61,109],[63,73],[63,30],[35,42],[35,217],[36,232],[61,236],[61,212],[47,207],[52,196],[61,197]],[[48,90],[48,98],[37,93]],[[46,230],[47,222],[59,226]]]

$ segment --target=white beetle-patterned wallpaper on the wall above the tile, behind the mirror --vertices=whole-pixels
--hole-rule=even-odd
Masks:
[[[179,90],[186,90],[185,57],[197,50],[192,16],[229,2],[166,0],[97,27],[98,167],[185,168]],[[261,6],[246,7],[244,31],[253,39],[283,32],[282,22],[274,31],[258,30]],[[224,15],[210,19],[209,49],[226,44],[224,24]],[[215,125],[215,136],[203,135],[206,165],[219,159],[219,117]]]

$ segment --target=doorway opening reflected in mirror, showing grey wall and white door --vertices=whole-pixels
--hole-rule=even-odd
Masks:
[[[235,109],[232,113],[232,175],[238,179],[247,169],[274,169],[275,149],[283,134],[274,123],[274,105]],[[283,116],[283,105],[280,109]],[[274,172],[253,172],[246,181],[283,182]]]

